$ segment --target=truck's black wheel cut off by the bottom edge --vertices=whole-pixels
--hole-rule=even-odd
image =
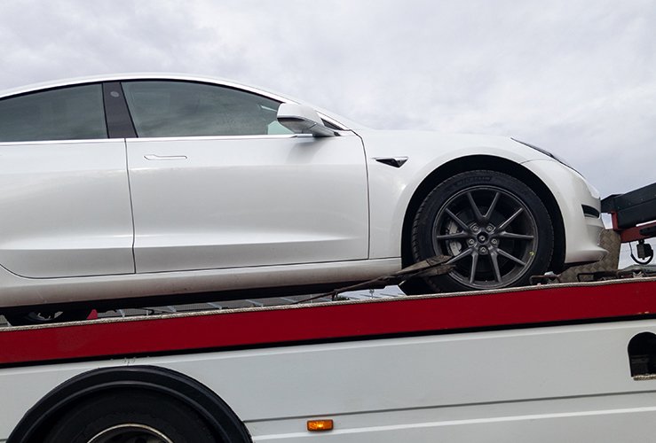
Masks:
[[[217,443],[202,418],[178,400],[119,391],[85,400],[51,428],[44,443]]]

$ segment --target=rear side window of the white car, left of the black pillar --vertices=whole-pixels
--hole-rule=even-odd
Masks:
[[[0,100],[0,142],[107,138],[99,84]]]

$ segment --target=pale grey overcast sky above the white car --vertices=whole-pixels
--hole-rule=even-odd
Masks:
[[[602,196],[656,182],[653,0],[3,0],[0,89],[208,74],[372,128],[515,136]]]

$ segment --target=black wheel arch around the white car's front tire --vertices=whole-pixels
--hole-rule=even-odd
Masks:
[[[410,198],[403,219],[401,232],[401,260],[403,266],[406,267],[412,264],[412,252],[410,251],[411,229],[415,214],[422,204],[423,199],[426,198],[431,190],[439,183],[447,180],[447,178],[463,172],[479,169],[510,175],[526,183],[542,200],[542,203],[549,211],[554,229],[554,252],[549,263],[549,269],[555,272],[563,270],[563,264],[565,262],[565,224],[556,198],[554,198],[547,185],[541,181],[540,177],[534,175],[526,167],[512,160],[490,155],[471,155],[448,161],[431,172],[419,184],[412,198]]]

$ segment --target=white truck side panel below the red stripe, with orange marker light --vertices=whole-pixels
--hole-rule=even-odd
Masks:
[[[627,352],[645,331],[656,320],[0,369],[0,441],[55,385],[135,364],[209,386],[254,441],[638,441],[656,431],[656,380],[634,380]]]

